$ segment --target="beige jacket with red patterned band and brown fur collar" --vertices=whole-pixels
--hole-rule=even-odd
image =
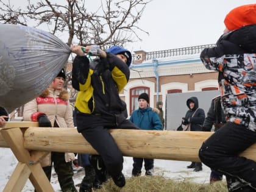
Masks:
[[[24,121],[37,121],[37,116],[45,113],[51,121],[59,127],[74,127],[73,111],[68,101],[68,91],[57,91],[47,88],[40,96],[24,105]],[[65,154],[66,160],[73,159],[73,153]],[[68,158],[67,158],[68,157]],[[41,160],[41,166],[51,165],[51,154]]]

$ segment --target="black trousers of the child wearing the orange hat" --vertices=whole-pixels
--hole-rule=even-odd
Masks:
[[[228,122],[204,141],[199,157],[202,163],[222,172],[227,179],[238,180],[256,190],[256,162],[238,156],[255,142],[256,132]],[[235,185],[234,182],[232,187]],[[231,188],[229,190],[232,191]]]

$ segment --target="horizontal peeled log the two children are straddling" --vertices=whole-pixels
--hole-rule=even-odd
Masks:
[[[110,133],[124,156],[199,162],[199,148],[213,132],[110,129]],[[96,154],[73,128],[29,127],[24,133],[24,148]],[[256,160],[256,144],[241,155]]]

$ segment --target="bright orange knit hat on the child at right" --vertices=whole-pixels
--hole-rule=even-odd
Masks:
[[[229,30],[256,24],[256,4],[236,7],[227,14],[224,23]]]

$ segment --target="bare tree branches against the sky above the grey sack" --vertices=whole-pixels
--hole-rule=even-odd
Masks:
[[[22,1],[18,3],[21,4]],[[141,40],[137,26],[150,0],[66,0],[26,1],[24,9],[17,2],[0,0],[0,23],[21,24],[48,29],[56,36],[66,34],[66,43],[99,44],[103,49],[113,44],[123,46]],[[87,7],[97,7],[90,11]],[[147,32],[146,32],[147,33]],[[65,40],[64,40],[65,41]]]

